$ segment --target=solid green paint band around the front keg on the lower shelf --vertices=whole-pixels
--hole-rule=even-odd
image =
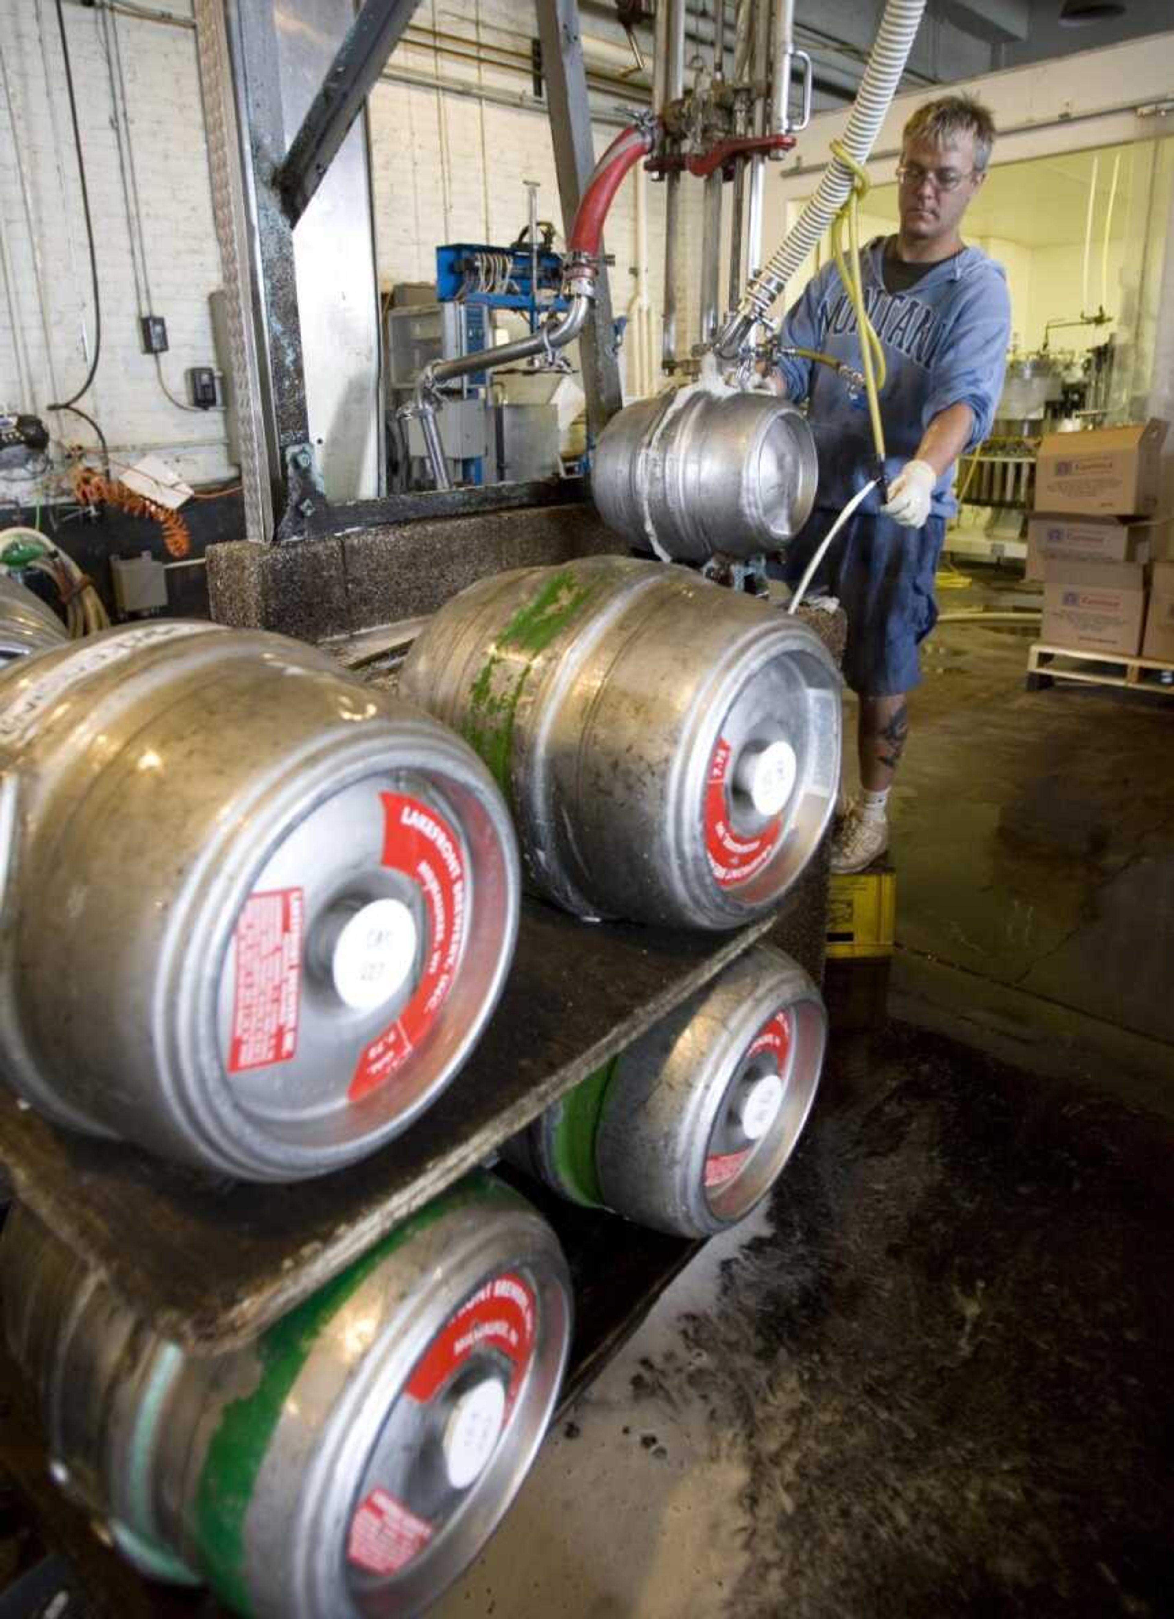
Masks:
[[[368,1276],[402,1243],[411,1242],[455,1209],[468,1205],[489,1208],[496,1203],[513,1208],[517,1198],[491,1175],[470,1175],[452,1192],[445,1192],[413,1214],[403,1226],[397,1226],[350,1269],[342,1271],[325,1287],[283,1315],[257,1341],[256,1357],[261,1368],[257,1386],[251,1394],[225,1405],[220,1413],[220,1423],[204,1455],[194,1507],[194,1540],[199,1548],[201,1572],[217,1595],[238,1613],[253,1613],[245,1562],[245,1519],[285,1402],[314,1344]]]

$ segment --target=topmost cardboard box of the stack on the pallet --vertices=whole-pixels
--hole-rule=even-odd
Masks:
[[[1150,516],[1158,510],[1168,423],[1049,432],[1035,463],[1035,510]]]

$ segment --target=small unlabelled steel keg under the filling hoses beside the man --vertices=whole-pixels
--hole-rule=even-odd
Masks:
[[[815,437],[772,393],[669,389],[604,427],[591,497],[609,528],[666,560],[777,552],[815,504]]]

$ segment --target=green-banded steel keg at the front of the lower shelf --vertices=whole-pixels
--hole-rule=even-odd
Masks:
[[[257,1619],[423,1613],[521,1485],[570,1341],[554,1232],[489,1175],[232,1353],[151,1331],[19,1206],[0,1284],[57,1481],[144,1574]]]

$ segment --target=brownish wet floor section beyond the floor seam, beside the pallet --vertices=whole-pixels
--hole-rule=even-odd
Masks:
[[[1030,599],[988,580],[942,610]],[[1174,695],[1027,691],[1028,644],[929,640],[895,788],[900,942],[1174,1043]]]

